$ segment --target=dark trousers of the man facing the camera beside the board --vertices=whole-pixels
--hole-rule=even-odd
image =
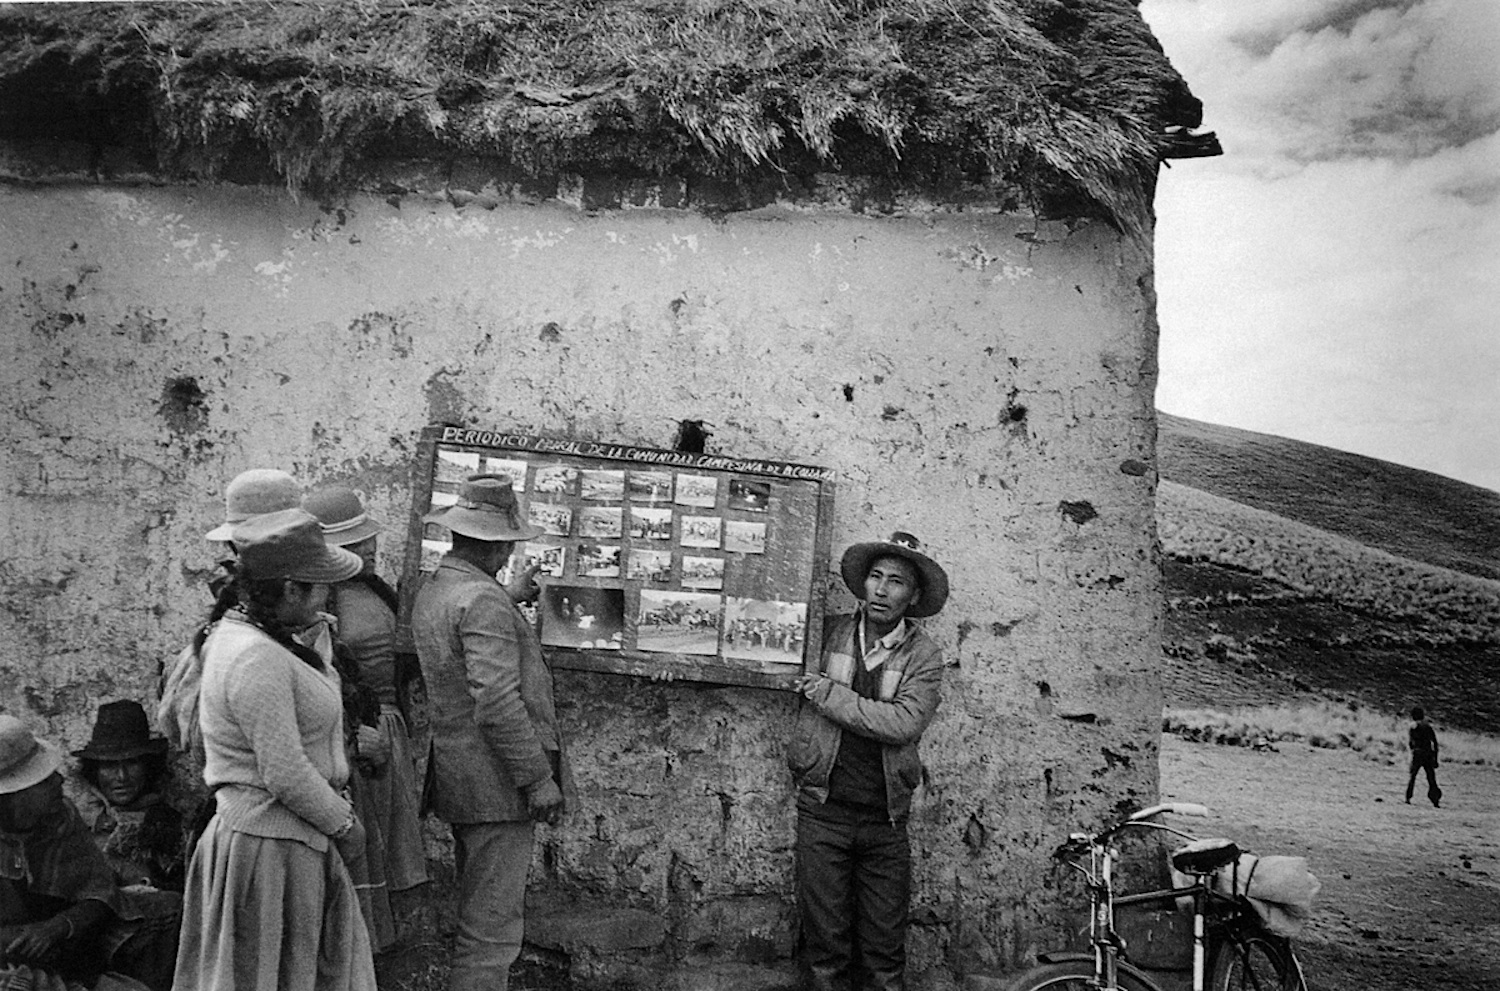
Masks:
[[[802,961],[810,991],[903,991],[912,856],[885,810],[801,798]]]

